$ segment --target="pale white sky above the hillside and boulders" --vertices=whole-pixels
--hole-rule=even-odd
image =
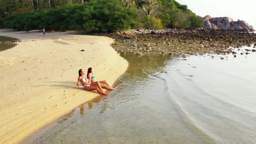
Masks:
[[[228,16],[246,21],[256,28],[256,0],[176,0],[187,5],[198,16]]]

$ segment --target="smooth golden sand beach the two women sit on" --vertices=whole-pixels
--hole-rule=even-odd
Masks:
[[[0,52],[0,143],[18,143],[99,93],[76,86],[78,70],[93,67],[97,80],[111,85],[128,62],[110,46],[109,37],[68,32],[16,32],[21,40]],[[85,51],[80,51],[80,50]]]

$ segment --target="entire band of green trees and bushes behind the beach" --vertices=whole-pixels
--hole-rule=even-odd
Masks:
[[[201,17],[175,0],[0,0],[1,21],[27,31],[203,27]]]

